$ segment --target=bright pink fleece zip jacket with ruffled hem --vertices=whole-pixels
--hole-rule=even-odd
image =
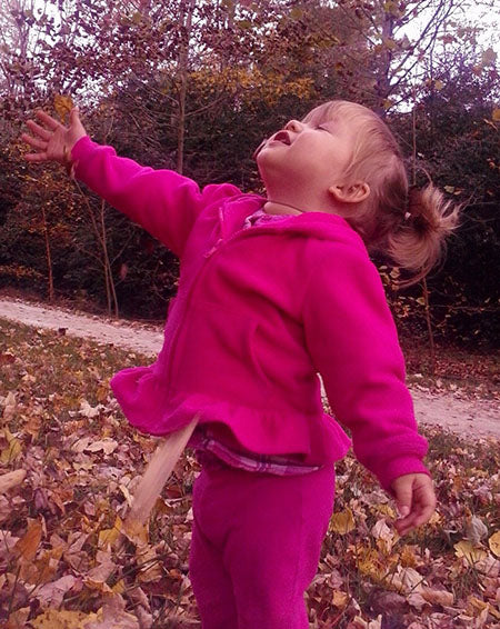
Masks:
[[[351,446],[342,425],[388,492],[399,476],[429,475],[383,286],[347,221],[308,212],[243,230],[262,197],[200,190],[88,137],[72,159],[81,181],[181,262],[157,360],[111,380],[134,427],[167,435],[201,411],[243,450],[327,465]]]

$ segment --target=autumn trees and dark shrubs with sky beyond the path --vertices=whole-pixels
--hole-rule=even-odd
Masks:
[[[473,12],[472,8],[473,7]],[[384,117],[412,183],[463,203],[443,263],[396,290],[398,328],[498,347],[499,72],[493,3],[463,0],[4,0],[0,7],[0,289],[161,320],[178,261],[58,167],[28,166],[19,140],[71,102],[98,142],[200,186],[262,192],[252,152],[332,98]],[[476,19],[488,12],[488,28]]]

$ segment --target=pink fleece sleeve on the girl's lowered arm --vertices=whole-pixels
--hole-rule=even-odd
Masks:
[[[427,473],[406,368],[382,281],[366,251],[331,247],[306,288],[308,349],[336,419],[352,435],[358,460],[391,496],[391,482]]]

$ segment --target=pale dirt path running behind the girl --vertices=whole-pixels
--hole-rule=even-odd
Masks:
[[[163,340],[161,326],[76,314],[19,299],[0,299],[0,318],[37,328],[66,328],[70,336],[112,343],[151,358],[159,352]],[[500,437],[500,410],[496,400],[469,400],[460,393],[434,393],[423,388],[412,388],[411,393],[419,425],[441,426],[462,437]]]

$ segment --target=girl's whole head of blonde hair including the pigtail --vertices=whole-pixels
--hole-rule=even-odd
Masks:
[[[303,122],[321,124],[340,118],[356,129],[347,180],[370,186],[370,196],[346,220],[369,251],[386,253],[414,272],[397,288],[413,284],[443,258],[446,238],[459,226],[460,207],[446,200],[432,183],[421,190],[410,188],[394,136],[370,109],[332,100],[310,111]]]

